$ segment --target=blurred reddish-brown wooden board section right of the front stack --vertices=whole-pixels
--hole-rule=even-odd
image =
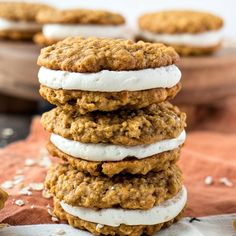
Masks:
[[[179,62],[183,88],[177,104],[214,104],[236,96],[236,48],[224,48],[212,56],[186,57]]]

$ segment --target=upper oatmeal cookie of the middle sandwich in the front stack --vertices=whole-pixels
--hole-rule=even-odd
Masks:
[[[185,113],[168,102],[140,110],[117,110],[80,115],[76,108],[57,107],[42,115],[43,127],[64,138],[82,143],[113,143],[127,146],[176,138],[185,127]]]

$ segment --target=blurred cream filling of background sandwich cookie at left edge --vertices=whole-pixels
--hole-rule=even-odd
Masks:
[[[41,25],[36,22],[9,21],[9,20],[0,18],[0,29],[1,30],[31,31],[31,30],[40,30]]]

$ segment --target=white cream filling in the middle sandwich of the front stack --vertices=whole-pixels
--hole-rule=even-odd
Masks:
[[[143,159],[178,148],[184,143],[185,139],[185,131],[182,131],[177,138],[137,146],[81,143],[79,141],[63,138],[57,134],[52,134],[50,138],[51,142],[62,152],[87,161],[121,161],[126,157]]]

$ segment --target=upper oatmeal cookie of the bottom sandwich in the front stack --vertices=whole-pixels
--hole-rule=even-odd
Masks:
[[[88,208],[150,209],[174,197],[182,188],[182,174],[176,165],[146,176],[90,176],[69,164],[53,166],[46,188],[59,200]]]

